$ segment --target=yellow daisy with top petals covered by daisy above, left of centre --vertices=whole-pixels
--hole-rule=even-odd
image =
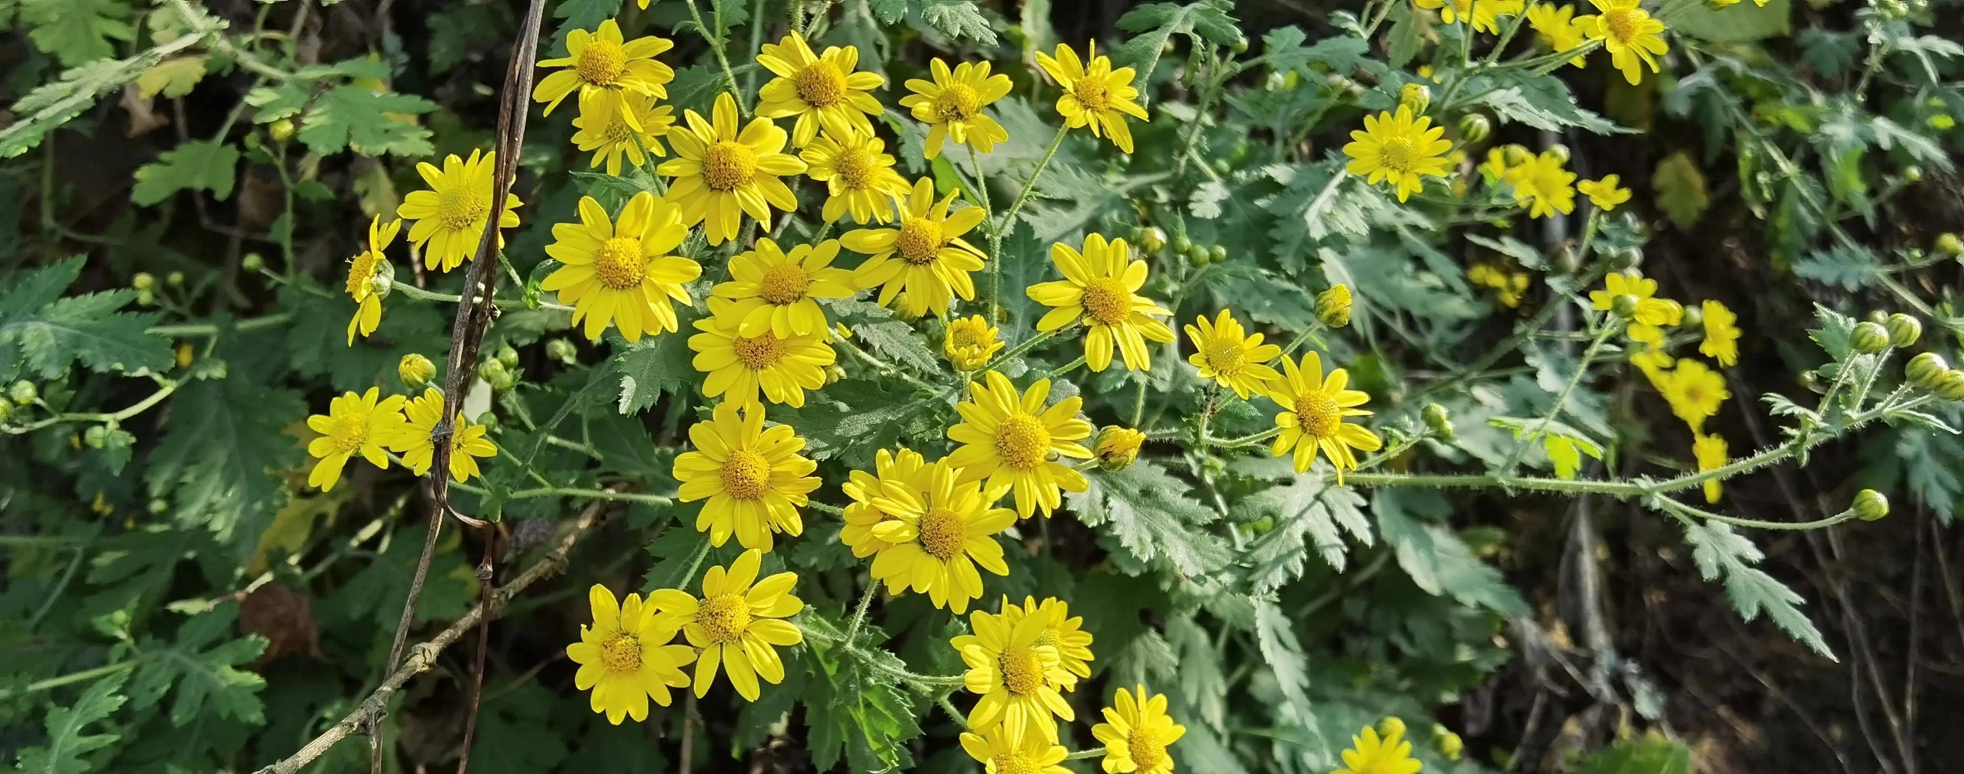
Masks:
[[[729,299],[709,299],[709,316],[695,320],[699,334],[689,336],[689,350],[695,350],[695,369],[709,375],[703,397],[758,405],[762,389],[770,403],[803,407],[805,391],[825,387],[825,367],[839,359],[827,330],[744,336],[740,328],[742,316]]]

